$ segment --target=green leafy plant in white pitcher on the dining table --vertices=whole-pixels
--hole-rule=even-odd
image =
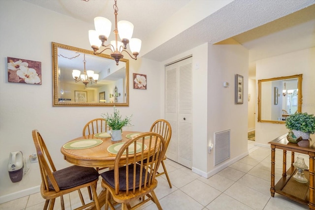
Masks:
[[[106,120],[107,125],[112,129],[108,131],[112,137],[113,141],[122,140],[122,128],[125,126],[132,126],[131,117],[126,116],[124,119],[122,119],[122,115],[119,113],[119,110],[114,106],[114,114],[102,114],[102,117]]]

